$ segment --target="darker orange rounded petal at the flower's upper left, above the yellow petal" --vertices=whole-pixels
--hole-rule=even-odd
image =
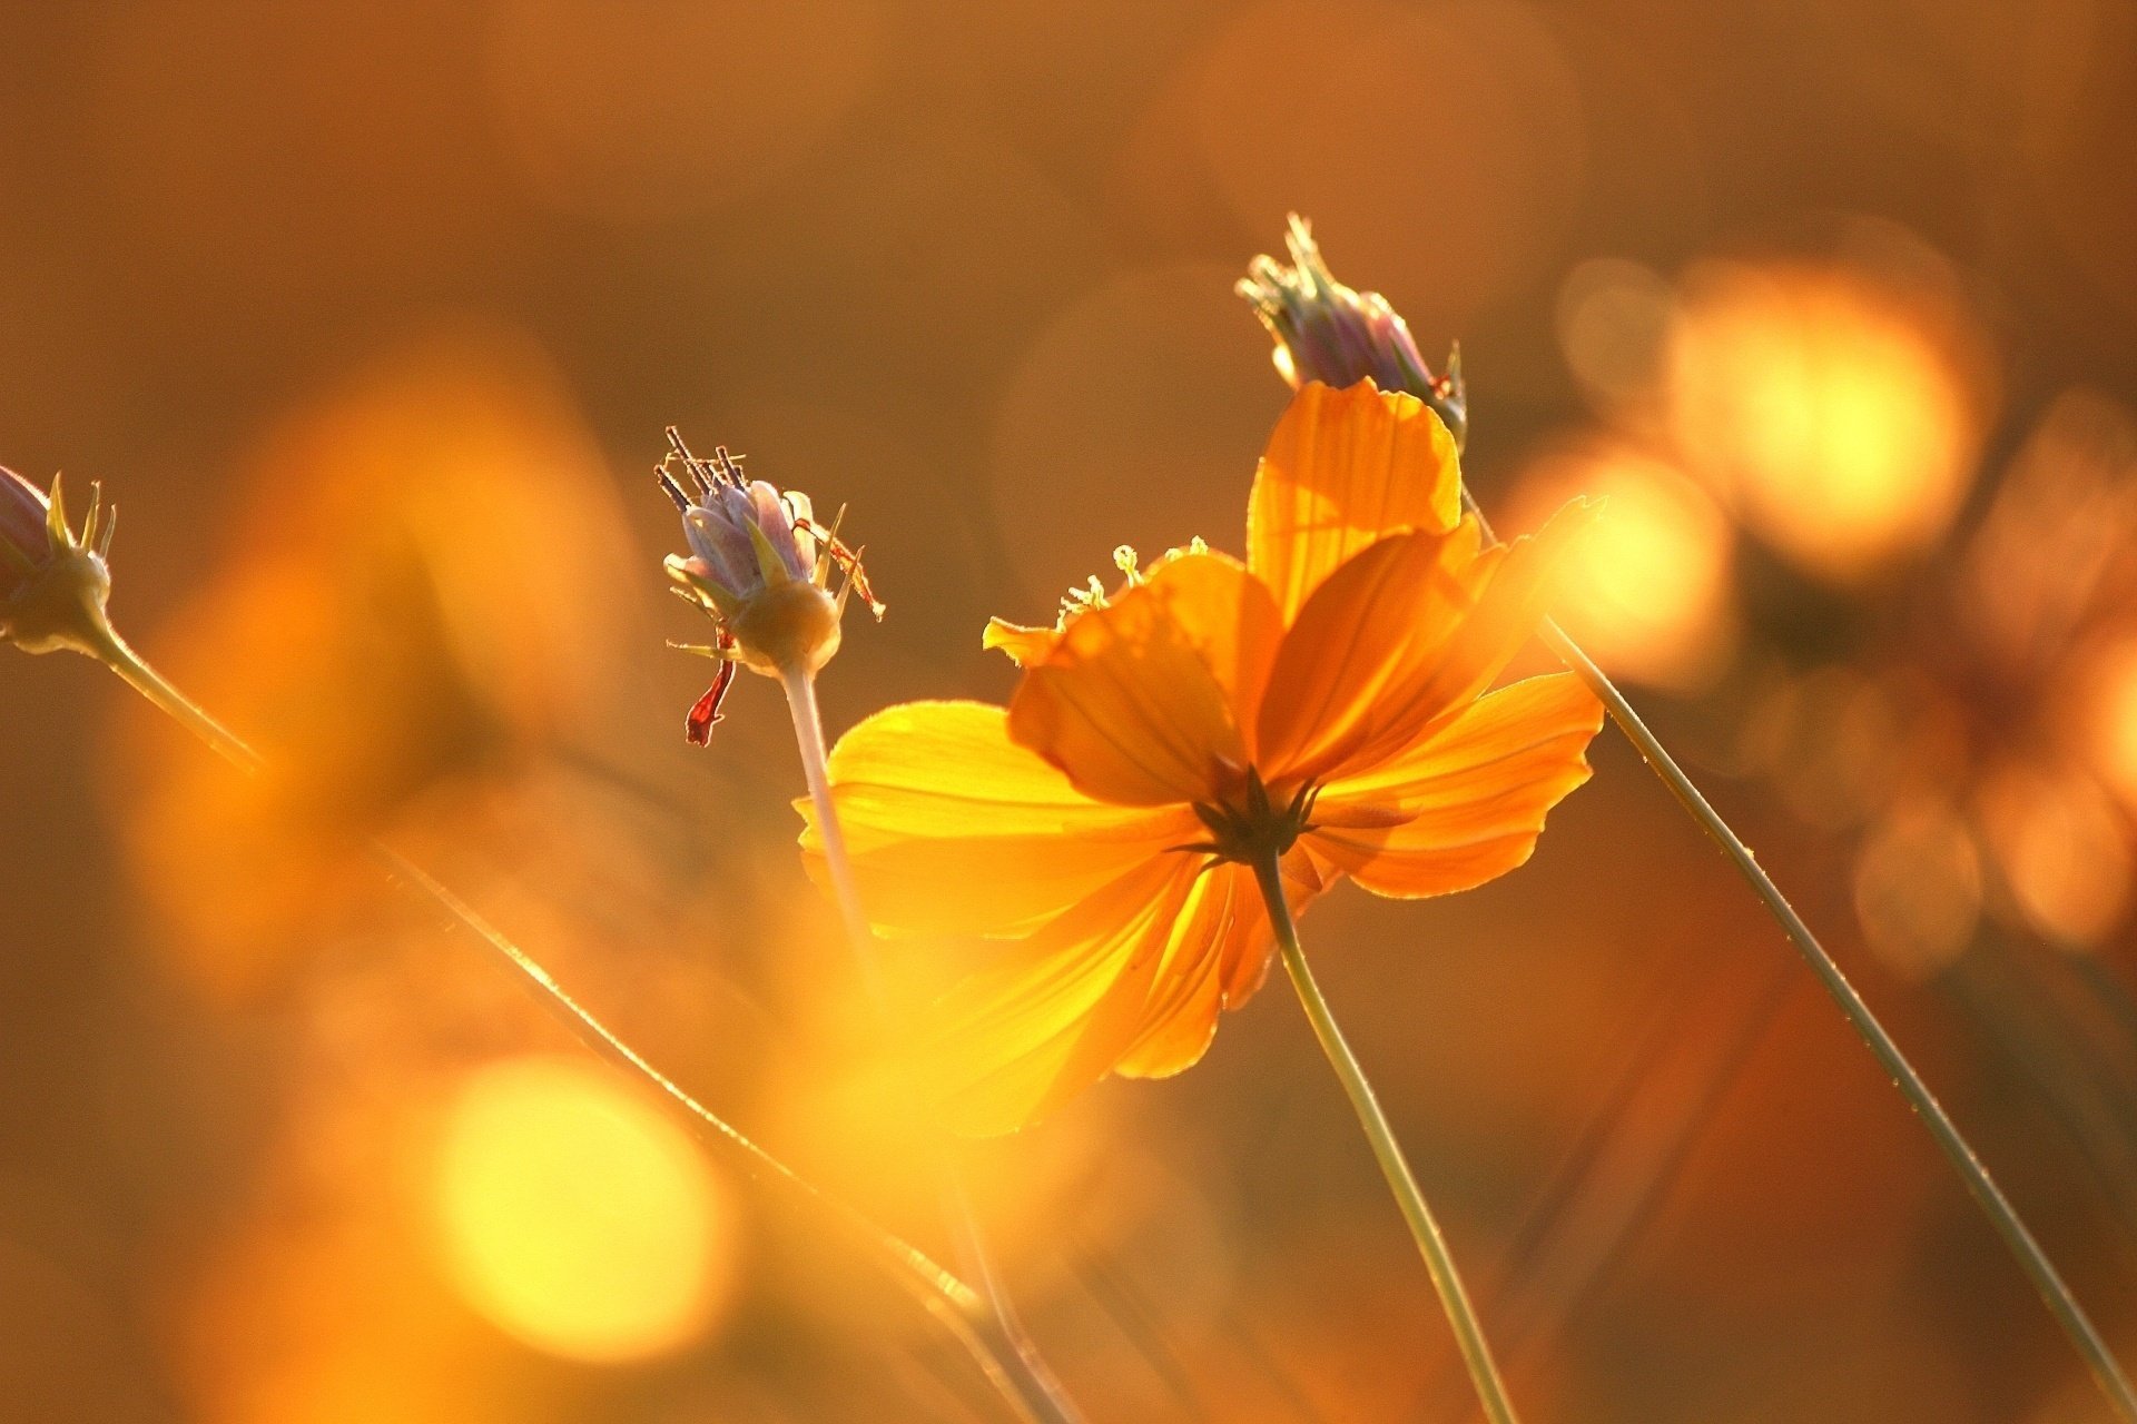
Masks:
[[[1098,801],[1218,798],[1246,771],[1242,696],[1267,681],[1276,630],[1269,591],[1235,559],[1169,559],[1071,619],[1026,670],[1009,732]]]

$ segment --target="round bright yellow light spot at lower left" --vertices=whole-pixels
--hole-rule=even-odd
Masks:
[[[575,1059],[506,1059],[459,1085],[434,1211],[462,1298],[571,1360],[688,1345],[712,1326],[735,1266],[735,1208],[697,1144]]]

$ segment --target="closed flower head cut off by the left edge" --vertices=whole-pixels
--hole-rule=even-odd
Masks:
[[[0,468],[0,638],[28,653],[62,647],[94,653],[109,645],[111,536],[118,506],[90,487],[90,512],[77,534],[66,521],[60,476],[47,495]]]

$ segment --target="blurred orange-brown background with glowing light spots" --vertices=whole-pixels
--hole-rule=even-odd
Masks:
[[[1569,623],[2137,1362],[2137,6],[267,0],[0,11],[0,461],[118,493],[120,626],[276,771],[0,655],[0,1418],[994,1420],[966,1362],[466,935],[932,1249],[795,854],[705,751],[660,429],[851,502],[833,730],[1201,534],[1297,209]],[[1605,732],[1537,860],[1338,895],[1323,982],[1537,1422],[2060,1424],[2075,1358]],[[927,952],[925,946],[912,952]],[[1301,1014],[977,1149],[1096,1424],[1457,1422]]]

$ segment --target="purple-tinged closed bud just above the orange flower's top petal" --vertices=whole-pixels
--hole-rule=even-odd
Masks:
[[[1468,436],[1468,401],[1462,391],[1462,352],[1447,357],[1447,374],[1434,376],[1410,327],[1381,292],[1357,292],[1329,271],[1314,246],[1312,228],[1291,213],[1284,235],[1291,265],[1257,256],[1233,288],[1254,305],[1261,325],[1276,337],[1276,369],[1293,389],[1319,380],[1342,391],[1361,380],[1383,391],[1406,391],[1432,406],[1460,446]]]

